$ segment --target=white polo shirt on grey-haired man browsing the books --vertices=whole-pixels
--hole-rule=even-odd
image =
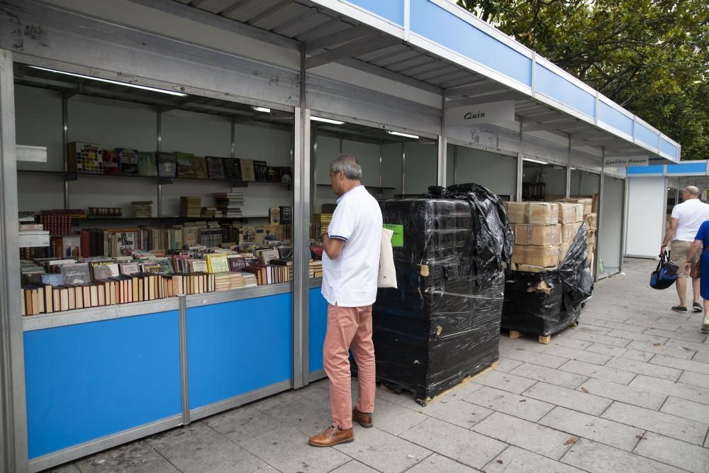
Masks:
[[[337,199],[328,236],[345,242],[334,260],[323,252],[323,297],[333,306],[363,307],[376,300],[381,209],[364,186]]]

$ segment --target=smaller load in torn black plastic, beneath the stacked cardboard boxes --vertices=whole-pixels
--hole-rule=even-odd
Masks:
[[[584,223],[559,268],[507,272],[502,327],[530,335],[553,335],[579,320],[581,304],[591,294],[593,276]]]

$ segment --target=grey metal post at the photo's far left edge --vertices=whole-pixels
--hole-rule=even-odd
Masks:
[[[0,471],[26,472],[22,317],[12,53],[0,50]]]

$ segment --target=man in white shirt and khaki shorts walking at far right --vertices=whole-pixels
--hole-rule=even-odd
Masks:
[[[704,221],[709,220],[709,204],[704,204],[699,200],[699,189],[688,186],[682,191],[683,202],[677,204],[672,209],[669,228],[665,232],[660,247],[660,254],[667,250],[667,244],[671,240],[671,259],[677,267],[678,278],[676,281],[679,305],[672,308],[679,313],[687,313],[687,274],[684,265],[687,262],[687,254],[691,247],[697,231]],[[692,269],[698,265],[699,253],[692,258]],[[693,304],[695,312],[701,312],[702,304],[699,303],[699,278],[692,278]]]

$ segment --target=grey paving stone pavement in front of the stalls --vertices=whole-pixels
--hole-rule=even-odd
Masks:
[[[327,426],[321,380],[51,471],[709,472],[702,315],[669,310],[655,264],[626,260],[549,345],[503,331],[497,369],[429,406],[378,387],[354,443],[307,445]]]

